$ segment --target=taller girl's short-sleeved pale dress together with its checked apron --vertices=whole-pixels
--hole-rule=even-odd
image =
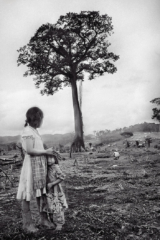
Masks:
[[[26,152],[26,139],[33,140],[33,147],[44,150],[38,131],[30,126],[24,128],[21,136],[25,158],[20,174],[17,199],[30,201],[33,196],[41,197],[46,194],[47,161],[45,156],[31,157]]]

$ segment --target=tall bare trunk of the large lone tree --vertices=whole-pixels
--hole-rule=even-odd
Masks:
[[[81,151],[81,147],[85,149],[84,140],[83,140],[83,122],[82,122],[82,112],[81,112],[80,104],[78,101],[76,80],[73,79],[71,81],[71,87],[72,87],[72,100],[73,100],[74,122],[75,122],[75,137],[71,145],[71,152],[72,151],[77,152],[77,151]]]

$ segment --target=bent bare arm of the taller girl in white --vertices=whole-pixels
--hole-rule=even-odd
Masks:
[[[51,148],[38,150],[33,147],[33,140],[31,138],[26,139],[26,152],[32,156],[41,156],[41,155],[53,155],[53,151]]]

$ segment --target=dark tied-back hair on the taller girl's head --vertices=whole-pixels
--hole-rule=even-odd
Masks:
[[[32,107],[26,112],[25,127],[29,124],[33,128],[38,128],[43,119],[43,112],[38,107]]]

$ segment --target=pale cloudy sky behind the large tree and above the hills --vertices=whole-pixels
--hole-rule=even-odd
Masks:
[[[0,0],[0,136],[19,135],[30,107],[44,112],[41,134],[74,132],[71,88],[42,96],[27,68],[17,66],[20,47],[46,23],[68,12],[99,11],[112,17],[109,51],[117,72],[83,82],[84,134],[151,119],[150,101],[160,97],[159,0]]]

